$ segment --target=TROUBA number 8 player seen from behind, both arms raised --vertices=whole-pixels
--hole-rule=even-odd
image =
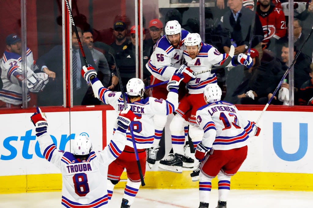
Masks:
[[[119,114],[119,117],[129,121],[133,116],[130,106]],[[113,139],[103,151],[92,151],[90,138],[76,136],[72,143],[72,152],[64,152],[56,149],[47,133],[47,118],[39,107],[31,116],[31,120],[36,126],[40,151],[46,160],[57,166],[62,173],[61,204],[68,208],[107,208],[107,182],[104,177],[107,176],[109,164],[124,150],[126,123],[118,122],[119,127]]]

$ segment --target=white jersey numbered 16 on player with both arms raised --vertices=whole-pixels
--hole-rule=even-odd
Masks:
[[[94,78],[91,80],[94,94],[105,104],[110,104],[116,111],[124,109],[124,100],[121,92],[112,92],[103,87],[101,82]],[[167,99],[156,99],[148,97],[137,102],[129,103],[127,94],[125,93],[127,105],[131,105],[131,111],[136,115],[132,121],[133,133],[136,141],[137,149],[146,149],[152,146],[154,140],[154,122],[153,116],[155,114],[169,115],[178,107],[178,94],[176,92],[169,92]],[[117,120],[112,119],[117,127]],[[126,145],[133,147],[131,133],[126,132]]]

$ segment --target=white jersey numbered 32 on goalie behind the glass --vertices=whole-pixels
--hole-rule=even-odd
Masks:
[[[33,71],[34,59],[33,52],[27,48],[27,70]],[[11,103],[13,105],[22,104],[22,57],[17,53],[5,51],[1,60],[1,79],[3,88],[0,90],[0,100]],[[27,93],[27,101],[30,100]]]

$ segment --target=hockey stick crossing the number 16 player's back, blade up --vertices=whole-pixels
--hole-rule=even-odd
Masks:
[[[123,100],[124,100],[124,107],[126,109],[127,108],[127,102],[126,102],[126,97],[125,97],[125,93],[124,93],[123,83],[122,83],[121,76],[120,76],[120,70],[116,66],[116,62],[115,62],[114,56],[110,52],[108,52],[108,53],[113,57],[113,61],[115,63],[116,74],[117,74],[117,77],[118,77],[119,85],[121,87],[122,97],[123,97]],[[138,156],[138,151],[137,151],[136,142],[135,142],[135,138],[134,138],[134,130],[133,130],[133,127],[131,126],[131,124],[129,125],[129,130],[131,132],[131,140],[132,140],[133,146],[134,146],[134,152],[135,152],[136,161],[137,161],[137,165],[138,165],[138,171],[139,171],[139,175],[140,175],[140,179],[141,179],[141,186],[145,186],[146,184],[145,184],[145,181],[143,180],[143,174],[142,174],[141,165],[140,165],[139,156]]]

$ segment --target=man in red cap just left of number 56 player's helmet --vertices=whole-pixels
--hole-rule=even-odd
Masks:
[[[147,48],[150,48],[149,52],[149,58],[153,52],[153,47],[156,44],[156,42],[160,39],[163,32],[163,24],[159,19],[152,19],[149,22],[149,33],[151,38],[146,41]]]

